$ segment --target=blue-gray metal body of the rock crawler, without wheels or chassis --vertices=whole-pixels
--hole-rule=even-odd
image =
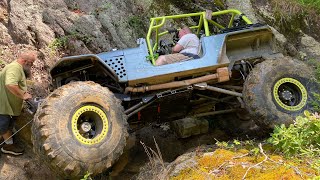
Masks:
[[[241,14],[237,10],[227,10],[225,13]],[[160,19],[167,17],[175,16],[164,16]],[[203,13],[201,18],[205,21]],[[215,72],[220,67],[228,67],[230,63],[276,53],[272,42],[273,34],[268,26],[263,25],[248,24],[242,29],[221,34],[205,33],[200,38],[202,52],[199,59],[162,66],[155,66],[152,60],[146,58],[151,55],[148,51],[148,41],[150,42],[150,37],[147,37],[147,41],[143,38],[138,39],[136,48],[62,58],[51,70],[55,87],[63,85],[61,80],[64,77],[70,77],[70,74],[65,75],[65,72],[75,69],[84,70],[99,66],[119,84],[139,86],[170,82],[179,77],[200,76],[207,72]]]

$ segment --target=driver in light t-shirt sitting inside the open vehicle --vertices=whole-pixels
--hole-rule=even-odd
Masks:
[[[198,51],[200,40],[197,35],[193,34],[189,27],[183,27],[179,31],[179,41],[172,48],[173,54],[161,55],[156,61],[156,66],[170,64],[186,59],[199,58]]]

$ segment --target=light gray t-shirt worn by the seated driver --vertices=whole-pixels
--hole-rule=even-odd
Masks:
[[[195,34],[186,34],[181,37],[178,44],[183,46],[179,53],[191,53],[198,55],[200,40]]]

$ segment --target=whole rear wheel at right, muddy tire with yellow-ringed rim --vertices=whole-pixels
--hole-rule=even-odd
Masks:
[[[312,68],[302,61],[284,57],[258,64],[243,89],[246,108],[261,128],[293,123],[304,110],[312,109],[318,92]]]

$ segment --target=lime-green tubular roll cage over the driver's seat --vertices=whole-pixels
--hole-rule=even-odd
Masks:
[[[190,14],[180,14],[180,15],[171,15],[171,16],[162,16],[162,17],[154,17],[150,19],[150,27],[148,30],[148,34],[146,37],[147,40],[147,46],[148,46],[148,51],[149,51],[149,57],[153,65],[155,65],[155,57],[154,57],[154,51],[158,49],[158,42],[159,42],[159,37],[168,34],[168,31],[164,31],[159,33],[159,28],[161,28],[165,21],[168,19],[179,19],[179,18],[188,18],[188,17],[199,17],[199,23],[196,26],[191,26],[189,27],[190,29],[197,29],[197,34],[200,33],[202,25],[205,31],[205,36],[210,36],[210,30],[209,30],[209,23],[214,25],[215,27],[218,27],[219,29],[226,29],[226,28],[231,28],[232,24],[234,22],[234,18],[236,15],[239,15],[242,17],[242,20],[246,22],[247,24],[252,24],[252,22],[246,17],[242,12],[236,9],[228,9],[228,10],[223,10],[223,11],[217,11],[217,12],[212,12],[209,14],[212,17],[215,16],[221,16],[225,14],[231,14],[231,18],[228,23],[228,27],[224,27],[223,25],[219,24],[218,22],[207,19],[206,15],[207,12],[198,12],[198,13],[190,13]],[[151,34],[152,32],[155,32],[155,43],[153,46],[151,46]]]

